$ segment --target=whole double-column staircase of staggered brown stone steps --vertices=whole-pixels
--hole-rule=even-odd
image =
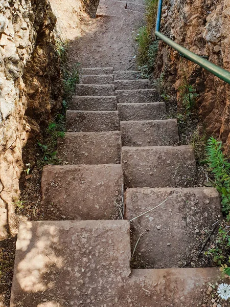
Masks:
[[[43,169],[47,221],[19,228],[11,307],[192,307],[220,278],[217,268],[180,268],[219,220],[220,199],[194,187],[193,148],[175,146],[176,120],[138,77],[82,69],[58,144],[63,165]]]

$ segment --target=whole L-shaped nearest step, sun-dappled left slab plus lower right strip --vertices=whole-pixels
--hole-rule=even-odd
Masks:
[[[10,307],[194,307],[221,278],[218,268],[130,271],[129,259],[127,221],[21,223]]]

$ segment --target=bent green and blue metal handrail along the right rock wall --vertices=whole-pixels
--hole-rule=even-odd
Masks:
[[[160,21],[162,19],[162,6],[163,0],[158,0],[158,9],[157,9],[157,17],[156,17],[156,31],[155,35],[162,39],[167,43],[167,45],[171,46],[173,49],[178,51],[183,57],[187,58],[188,60],[198,64],[200,67],[204,68],[205,70],[209,71],[213,75],[217,76],[221,80],[225,81],[226,83],[230,84],[230,72],[219,67],[218,65],[204,59],[203,57],[195,54],[192,51],[180,46],[178,43],[173,41],[172,39],[168,38],[164,34],[160,33]]]

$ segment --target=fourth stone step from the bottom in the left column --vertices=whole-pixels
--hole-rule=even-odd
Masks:
[[[102,132],[120,129],[118,111],[67,111],[68,132]]]

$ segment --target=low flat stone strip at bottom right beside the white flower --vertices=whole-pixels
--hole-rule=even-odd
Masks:
[[[206,291],[209,282],[215,284],[220,278],[218,268],[132,270],[123,293],[131,296],[130,306],[135,307],[213,306],[213,297],[207,297]]]

